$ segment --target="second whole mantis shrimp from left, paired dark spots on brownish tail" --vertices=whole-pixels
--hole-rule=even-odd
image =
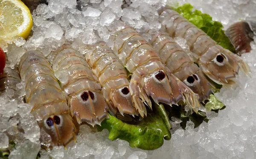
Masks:
[[[70,112],[77,122],[86,122],[92,126],[100,124],[108,118],[108,105],[103,98],[102,88],[80,52],[68,47],[67,43],[64,44],[63,50],[53,59],[55,76],[60,81]]]

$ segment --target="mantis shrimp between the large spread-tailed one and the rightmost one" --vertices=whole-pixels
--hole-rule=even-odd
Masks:
[[[148,34],[151,37],[149,43],[173,75],[198,94],[200,101],[208,98],[212,93],[209,82],[189,55],[167,33],[149,30]]]

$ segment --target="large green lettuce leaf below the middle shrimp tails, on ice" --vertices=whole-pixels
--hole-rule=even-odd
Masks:
[[[131,147],[143,150],[157,149],[163,145],[163,139],[171,139],[169,129],[172,126],[163,105],[154,103],[152,109],[139,122],[126,122],[110,115],[110,119],[102,121],[101,128],[109,131],[108,138],[111,140],[126,140]]]

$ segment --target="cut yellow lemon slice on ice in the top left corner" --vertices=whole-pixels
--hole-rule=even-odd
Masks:
[[[26,38],[32,29],[32,16],[20,0],[0,0],[0,38]]]

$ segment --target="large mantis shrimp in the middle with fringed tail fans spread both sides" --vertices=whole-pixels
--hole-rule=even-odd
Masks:
[[[155,50],[135,30],[122,29],[115,34],[114,52],[132,73],[131,95],[151,106],[148,96],[156,103],[177,104],[184,100],[196,110],[199,106],[195,94],[172,75],[161,62]]]

